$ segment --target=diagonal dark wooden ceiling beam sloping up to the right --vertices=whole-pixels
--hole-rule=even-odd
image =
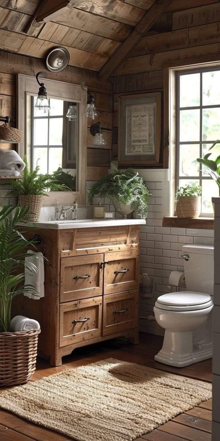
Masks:
[[[146,12],[143,18],[128,35],[122,45],[116,50],[114,56],[110,58],[99,72],[99,77],[107,79],[110,75],[119,67],[119,65],[125,60],[129,52],[135,47],[135,45],[143,38],[147,32],[152,28],[154,23],[163,14],[166,8],[172,3],[173,0],[155,0],[154,4]]]

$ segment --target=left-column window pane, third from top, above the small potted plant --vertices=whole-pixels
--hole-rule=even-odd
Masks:
[[[180,145],[180,176],[199,176],[199,144]]]

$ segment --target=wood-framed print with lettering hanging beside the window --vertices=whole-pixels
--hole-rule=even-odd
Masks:
[[[118,165],[157,165],[161,147],[161,93],[119,97]]]

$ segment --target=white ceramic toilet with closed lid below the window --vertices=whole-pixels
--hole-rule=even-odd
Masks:
[[[212,309],[214,247],[183,245],[187,291],[158,297],[154,314],[165,329],[155,360],[183,367],[213,356]]]

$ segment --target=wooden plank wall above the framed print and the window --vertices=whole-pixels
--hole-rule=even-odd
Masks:
[[[142,7],[144,2],[142,3]],[[181,9],[181,10],[180,10]],[[163,95],[164,64],[220,53],[220,3],[208,0],[173,1],[161,22],[169,23],[169,32],[150,32],[130,52],[114,74],[113,149],[117,159],[118,97],[120,94],[160,91]],[[195,61],[196,62],[196,61]],[[187,63],[186,63],[187,64]],[[176,64],[178,65],[178,63]],[[162,136],[161,139],[163,140]],[[162,141],[163,142],[163,141]]]

